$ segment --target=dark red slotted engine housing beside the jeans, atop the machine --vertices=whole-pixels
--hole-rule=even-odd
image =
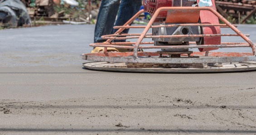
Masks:
[[[151,16],[155,13],[155,10],[160,7],[171,7],[173,5],[172,0],[144,0],[143,6],[144,10],[151,14]],[[159,22],[160,20],[165,19],[167,16],[167,11],[162,11],[159,13],[155,22]]]

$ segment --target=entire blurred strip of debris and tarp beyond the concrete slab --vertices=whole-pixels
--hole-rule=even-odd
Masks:
[[[256,0],[215,2],[217,11],[229,22],[256,24]],[[100,3],[101,0],[0,0],[0,28],[96,23]],[[134,23],[146,24],[150,18],[145,13]]]

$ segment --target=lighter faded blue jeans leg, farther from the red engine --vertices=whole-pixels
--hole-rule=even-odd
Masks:
[[[116,14],[120,5],[120,0],[102,0],[94,30],[94,43],[101,43],[106,40],[101,36],[112,34],[116,20]]]

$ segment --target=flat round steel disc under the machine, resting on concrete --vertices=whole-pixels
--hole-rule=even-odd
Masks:
[[[88,62],[82,64],[87,69],[112,72],[163,72],[163,73],[203,73],[203,72],[242,72],[256,70],[256,62],[227,63],[222,67],[207,68],[127,68],[125,63]]]

